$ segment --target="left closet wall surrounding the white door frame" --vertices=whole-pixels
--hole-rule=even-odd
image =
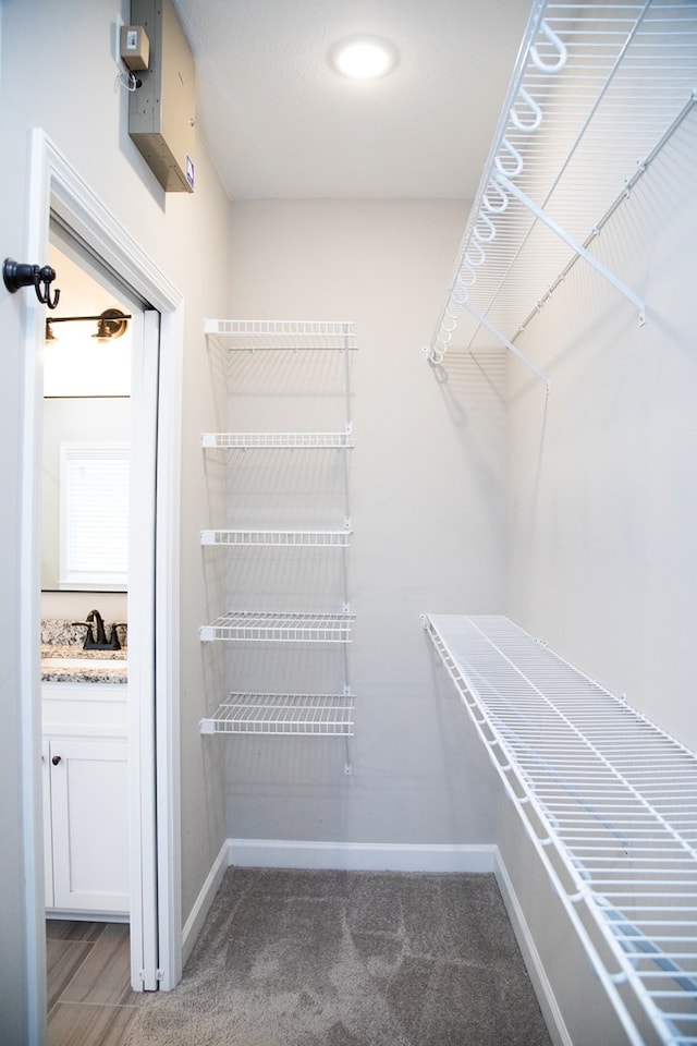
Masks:
[[[7,0],[2,3],[0,58],[0,204],[2,257],[27,258],[28,146],[33,127],[42,127],[69,162],[83,175],[117,219],[143,246],[185,297],[185,353],[182,417],[182,562],[181,562],[181,679],[182,679],[182,840],[183,916],[210,869],[223,838],[219,771],[213,761],[204,764],[197,723],[203,694],[203,668],[197,625],[204,603],[196,506],[206,497],[198,433],[209,411],[206,357],[200,338],[203,318],[224,308],[228,297],[228,200],[208,161],[203,144],[196,156],[196,193],[164,195],[127,136],[127,97],[114,90],[113,61],[117,15],[127,21],[126,0]],[[78,56],[72,61],[71,56]],[[57,280],[60,287],[60,272]],[[26,898],[23,876],[23,830],[26,816],[22,780],[22,701],[20,693],[19,631],[21,492],[25,365],[22,343],[22,292],[0,290],[0,327],[3,331],[3,381],[0,387],[0,476],[3,512],[0,542],[13,550],[5,558],[0,593],[0,839],[2,840],[3,941],[0,971],[0,1025],[3,1043],[26,1046],[27,998],[32,964],[27,970]],[[168,345],[163,345],[164,357]],[[28,390],[32,394],[32,390]],[[38,547],[37,547],[38,554]],[[38,577],[38,565],[37,565]],[[38,621],[37,621],[38,628]],[[38,673],[38,665],[37,665]],[[38,773],[38,759],[36,763]],[[205,811],[201,814],[201,811]],[[34,970],[34,982],[36,972]]]

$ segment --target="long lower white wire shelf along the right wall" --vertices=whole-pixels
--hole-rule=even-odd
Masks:
[[[628,1041],[697,1043],[697,755],[504,617],[424,621]]]

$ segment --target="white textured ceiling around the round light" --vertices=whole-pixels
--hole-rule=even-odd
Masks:
[[[233,199],[470,197],[530,0],[174,0],[198,80],[198,129]],[[327,52],[387,37],[382,80]]]

